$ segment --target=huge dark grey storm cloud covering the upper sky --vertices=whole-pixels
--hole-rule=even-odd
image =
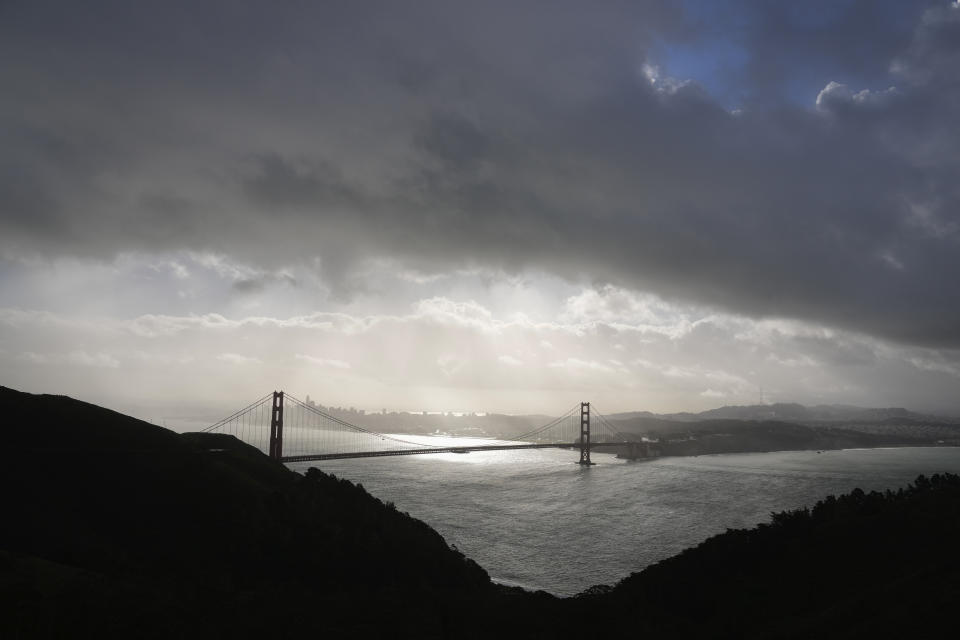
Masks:
[[[642,71],[718,37],[668,5],[8,3],[2,248],[544,269],[960,345],[960,9],[735,5],[742,93],[823,75],[730,113]]]

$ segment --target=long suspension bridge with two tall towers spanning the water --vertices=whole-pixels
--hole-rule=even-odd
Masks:
[[[590,461],[592,449],[613,450],[630,459],[645,458],[650,453],[647,442],[619,433],[610,420],[596,409],[591,410],[589,402],[574,405],[560,417],[506,440],[491,444],[448,445],[417,442],[417,436],[371,431],[288,393],[274,391],[204,431],[233,435],[284,463],[559,448],[579,451],[579,463],[590,465],[593,464]]]

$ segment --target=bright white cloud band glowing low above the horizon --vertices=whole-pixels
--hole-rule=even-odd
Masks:
[[[223,397],[227,405],[284,388],[375,410],[549,413],[550,399],[571,397],[611,412],[715,406],[719,397],[705,390],[725,394],[725,404],[753,403],[761,385],[784,400],[923,409],[947,397],[960,372],[960,355],[795,320],[674,307],[611,288],[570,297],[560,313],[523,317],[509,306],[496,313],[476,300],[448,297],[393,315],[124,320],[0,309],[0,374],[6,384],[30,390],[96,392],[106,385],[112,393],[155,394],[174,404],[196,396],[197,403]],[[683,328],[637,328],[651,321]],[[78,366],[88,374],[70,374]],[[323,384],[324,373],[346,371],[349,385]]]

